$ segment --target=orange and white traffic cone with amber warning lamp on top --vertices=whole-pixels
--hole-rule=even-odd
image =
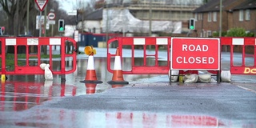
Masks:
[[[85,49],[86,54],[88,54],[88,49],[90,50],[90,53],[89,53],[90,55],[88,57],[86,78],[84,81],[80,81],[80,82],[102,83],[102,81],[97,80],[96,71],[95,71],[95,67],[94,67],[94,52],[92,51],[93,49],[90,46],[86,46],[86,49]]]

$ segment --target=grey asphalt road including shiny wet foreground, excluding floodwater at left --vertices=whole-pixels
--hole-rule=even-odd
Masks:
[[[15,127],[255,127],[256,93],[242,83],[134,82],[2,112]],[[253,84],[249,84],[254,86]],[[10,114],[14,116],[10,116]],[[170,120],[167,122],[166,120]]]

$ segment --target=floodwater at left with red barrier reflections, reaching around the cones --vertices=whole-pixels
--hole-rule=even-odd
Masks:
[[[94,58],[94,62],[97,78],[103,82],[102,84],[80,82],[86,76],[86,58],[78,60],[74,74],[66,74],[66,82],[62,82],[59,75],[54,75],[53,81],[45,81],[43,75],[7,75],[6,82],[1,83],[0,110],[26,110],[52,98],[101,93],[110,88],[123,86],[106,83],[112,79],[112,74],[106,70],[106,58]],[[124,58],[123,62],[124,69],[129,70],[130,58]],[[66,61],[66,70],[69,70],[71,64],[72,61]],[[58,65],[58,62],[54,62],[54,68],[59,68]],[[154,75],[123,75],[126,81],[151,76]]]

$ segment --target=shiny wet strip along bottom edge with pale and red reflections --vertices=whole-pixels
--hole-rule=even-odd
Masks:
[[[16,113],[0,116],[2,126],[33,127],[251,127],[213,116],[193,114],[162,114],[139,111],[94,112],[66,109],[33,108],[34,114]]]

